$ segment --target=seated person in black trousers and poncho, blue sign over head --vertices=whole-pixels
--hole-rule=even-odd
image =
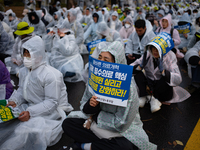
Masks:
[[[182,77],[174,52],[169,51],[163,56],[162,51],[158,44],[150,42],[144,55],[131,64],[134,66],[133,74],[139,88],[140,107],[144,107],[145,103],[150,101],[152,113],[161,109],[161,102],[177,103],[190,97],[186,90],[178,86]],[[147,93],[147,86],[151,96]]]

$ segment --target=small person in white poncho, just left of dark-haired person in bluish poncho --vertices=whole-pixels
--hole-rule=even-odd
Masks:
[[[85,10],[85,15],[80,19],[80,23],[81,24],[85,24],[85,26],[83,27],[84,32],[87,31],[87,29],[90,27],[90,25],[92,24],[92,15],[91,15],[91,10],[90,8],[86,8]]]

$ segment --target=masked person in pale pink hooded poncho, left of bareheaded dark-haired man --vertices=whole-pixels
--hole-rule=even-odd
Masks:
[[[133,27],[133,19],[131,16],[126,17],[124,20],[124,26],[120,29],[119,34],[121,36],[121,39],[128,39],[129,36],[135,31],[135,28]]]

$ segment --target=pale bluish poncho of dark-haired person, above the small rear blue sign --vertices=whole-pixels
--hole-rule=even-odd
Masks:
[[[90,25],[90,27],[87,29],[87,31],[84,33],[84,39],[85,39],[85,43],[90,43],[92,41],[96,41],[99,39],[98,34],[97,34],[97,29],[98,29],[98,25],[100,22],[102,22],[102,12],[96,12],[93,14],[94,16],[98,16],[98,20],[97,23],[95,23],[93,21],[93,23]]]

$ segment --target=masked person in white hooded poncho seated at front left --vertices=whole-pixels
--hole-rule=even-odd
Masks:
[[[0,142],[0,149],[46,150],[47,146],[60,140],[63,132],[61,124],[66,118],[64,111],[69,112],[73,108],[68,103],[62,74],[46,65],[42,39],[35,36],[22,47],[25,67],[19,73],[19,88],[8,103],[8,106],[22,111],[18,118],[20,122],[1,130],[1,133],[6,129],[14,131],[6,136],[0,135],[5,136],[0,137],[4,139]]]

